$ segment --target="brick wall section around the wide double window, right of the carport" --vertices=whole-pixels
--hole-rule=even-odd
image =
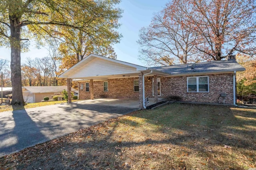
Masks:
[[[233,104],[233,74],[211,74],[209,92],[187,92],[187,76],[161,78],[161,97],[180,96],[184,102],[218,103],[218,96],[226,92],[226,104]]]

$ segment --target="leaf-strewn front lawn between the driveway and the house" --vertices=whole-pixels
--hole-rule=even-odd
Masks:
[[[0,158],[0,169],[255,169],[256,109],[170,104]]]

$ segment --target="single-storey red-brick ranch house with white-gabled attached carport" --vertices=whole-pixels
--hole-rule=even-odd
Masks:
[[[226,104],[236,104],[236,72],[244,70],[235,59],[148,68],[90,54],[59,77],[68,78],[68,87],[78,79],[79,99],[136,98],[145,108],[146,97],[217,103],[221,92]]]

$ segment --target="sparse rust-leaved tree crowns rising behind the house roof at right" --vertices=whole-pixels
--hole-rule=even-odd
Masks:
[[[168,56],[165,65],[186,63],[188,55],[191,61],[221,60],[235,51],[255,55],[255,7],[254,0],[173,0],[141,29],[141,58]]]

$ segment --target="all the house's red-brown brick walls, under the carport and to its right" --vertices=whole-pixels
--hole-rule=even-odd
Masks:
[[[180,96],[184,102],[217,103],[220,92],[226,92],[226,104],[233,104],[233,75],[211,74],[209,76],[209,92],[187,92],[187,76],[161,77],[161,96]],[[152,98],[152,77],[145,77],[145,97]],[[139,98],[134,92],[133,80],[138,78],[118,78],[108,80],[108,92],[103,92],[103,81],[94,82],[94,98]],[[90,99],[90,92],[79,89],[80,99]],[[80,85],[81,87],[81,85]]]

